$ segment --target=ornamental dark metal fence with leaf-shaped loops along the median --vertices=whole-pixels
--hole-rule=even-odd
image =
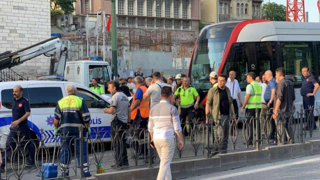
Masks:
[[[175,154],[173,159],[186,157],[205,157],[211,158],[218,153],[228,153],[233,151],[261,150],[265,146],[284,145],[292,143],[303,143],[306,140],[320,137],[319,130],[314,129],[315,118],[319,118],[319,109],[310,107],[290,113],[278,113],[277,118],[272,118],[272,112],[261,114],[257,110],[253,116],[246,114],[244,118],[211,118],[206,120],[192,120],[182,123],[184,148],[179,150],[176,138]],[[319,119],[318,119],[319,120]],[[320,121],[318,121],[318,126]],[[273,143],[273,133],[276,131]],[[44,134],[43,130],[41,132]],[[65,157],[66,151],[61,147],[67,147],[68,154],[68,176],[84,177],[84,161],[88,161],[88,168],[92,174],[110,172],[113,169],[126,169],[128,167],[153,167],[159,163],[156,151],[150,147],[150,137],[147,129],[131,127],[129,129],[116,128],[112,130],[94,130],[94,138],[88,138],[84,134],[83,128],[79,127],[79,135],[69,136],[60,134],[56,138],[42,137],[40,140],[25,141],[24,137],[14,140],[15,147],[9,159],[6,161],[2,179],[30,179],[36,174],[41,179],[48,169],[48,163],[52,162],[52,145],[58,141],[57,152],[53,163],[58,165],[58,171],[66,172],[67,167],[61,162],[62,153]],[[90,137],[90,135],[89,135]],[[111,138],[110,138],[111,137]],[[67,141],[69,138],[69,141]],[[111,140],[105,143],[106,138]],[[71,139],[71,140],[70,140]],[[251,141],[252,140],[252,141]],[[49,142],[49,143],[48,143]],[[67,143],[69,142],[69,143]],[[35,148],[36,168],[27,168],[28,144]],[[75,148],[79,143],[79,151]],[[86,147],[86,148],[85,148]],[[110,150],[109,150],[110,149]],[[85,157],[84,150],[87,156]],[[122,164],[121,154],[127,151],[129,166]],[[5,155],[6,152],[4,152]],[[77,160],[78,158],[78,160]],[[111,167],[110,165],[114,165]],[[66,175],[66,173],[64,173]],[[66,175],[67,176],[67,175]]]

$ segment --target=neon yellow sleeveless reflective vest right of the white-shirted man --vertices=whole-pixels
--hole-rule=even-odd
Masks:
[[[253,94],[250,96],[246,108],[255,109],[261,108],[261,94],[262,94],[262,87],[258,82],[252,82],[251,88],[253,90]]]

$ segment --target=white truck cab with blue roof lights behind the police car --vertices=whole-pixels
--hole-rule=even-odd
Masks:
[[[107,82],[112,80],[111,67],[100,57],[83,58],[79,61],[68,61],[64,71],[65,80],[88,87],[92,78],[104,87],[107,94]]]

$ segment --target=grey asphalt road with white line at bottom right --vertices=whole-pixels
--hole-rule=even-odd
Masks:
[[[320,154],[257,166],[238,168],[183,180],[314,180],[320,179]]]

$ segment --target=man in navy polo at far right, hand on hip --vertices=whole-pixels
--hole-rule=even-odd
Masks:
[[[310,112],[308,109],[309,106],[311,109],[315,108],[315,94],[319,89],[319,84],[316,79],[310,74],[308,67],[303,67],[301,72],[304,78],[302,81],[300,94],[302,96],[303,109],[305,110],[306,119],[308,122],[308,126],[306,126],[305,129],[308,130],[309,127],[311,128],[312,123],[314,124],[313,129],[316,129],[316,121],[314,119],[308,118],[308,114],[313,114],[313,110],[311,110]]]

